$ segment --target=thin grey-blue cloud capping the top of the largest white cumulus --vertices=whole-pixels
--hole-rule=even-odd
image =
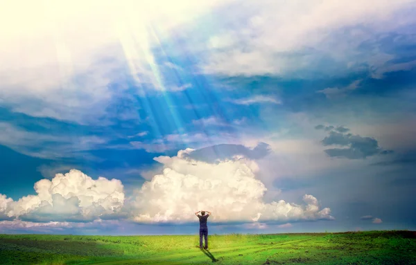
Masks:
[[[260,159],[270,154],[270,145],[266,143],[259,143],[257,147],[250,149],[244,145],[213,145],[195,150],[187,154],[189,158],[204,161],[207,163],[216,163],[217,161],[224,161],[232,159],[234,156],[244,156],[250,159]]]

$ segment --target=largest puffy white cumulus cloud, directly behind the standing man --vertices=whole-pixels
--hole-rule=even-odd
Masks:
[[[132,219],[139,223],[194,221],[193,212],[212,212],[213,222],[305,221],[333,219],[329,208],[320,209],[318,200],[305,194],[304,205],[284,200],[264,203],[266,187],[259,179],[257,163],[249,159],[218,164],[190,161],[193,150],[177,156],[159,156],[162,174],[146,181],[132,203]]]

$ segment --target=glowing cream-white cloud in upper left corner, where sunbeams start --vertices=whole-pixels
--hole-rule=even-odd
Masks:
[[[157,25],[162,37],[224,1],[2,3],[1,102],[31,116],[90,123],[105,117],[114,95],[127,87],[125,66],[138,83],[162,85],[151,51],[159,39],[148,25]],[[121,91],[110,89],[112,82]]]

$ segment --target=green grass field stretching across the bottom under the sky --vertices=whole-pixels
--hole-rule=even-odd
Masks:
[[[416,264],[416,232],[0,235],[0,264]]]

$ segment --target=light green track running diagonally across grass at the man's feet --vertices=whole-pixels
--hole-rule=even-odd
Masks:
[[[189,251],[186,253],[171,254],[171,255],[160,255],[157,257],[151,257],[146,259],[123,259],[123,260],[114,260],[107,262],[98,262],[94,263],[95,265],[132,265],[132,264],[184,264],[184,263],[196,263],[196,262],[209,262],[210,258],[212,259],[223,259],[227,257],[236,257],[239,255],[247,255],[252,253],[260,253],[267,250],[284,248],[286,245],[303,243],[305,241],[311,241],[312,239],[299,239],[284,241],[283,243],[274,243],[274,244],[254,244],[254,245],[245,245],[245,246],[232,246],[227,248],[216,248],[212,251],[206,250],[196,250]],[[205,254],[205,253],[206,254]],[[209,256],[209,257],[207,257]]]

